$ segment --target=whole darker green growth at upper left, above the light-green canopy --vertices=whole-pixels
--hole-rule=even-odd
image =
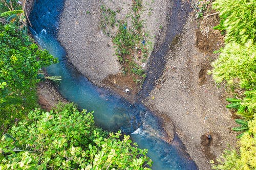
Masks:
[[[1,6],[6,4],[8,6],[1,8],[1,15],[5,17],[0,23],[1,133],[38,107],[35,91],[38,70],[57,62],[47,51],[32,43],[24,25],[23,11],[13,9],[17,4],[6,2]]]

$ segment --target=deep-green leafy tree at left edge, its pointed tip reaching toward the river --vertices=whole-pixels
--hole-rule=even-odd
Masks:
[[[14,25],[1,25],[0,33],[0,80],[5,80],[9,89],[30,88],[41,67],[57,62]]]

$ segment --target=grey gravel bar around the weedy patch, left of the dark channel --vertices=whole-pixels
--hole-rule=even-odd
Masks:
[[[147,35],[145,43],[152,43],[148,49],[148,56],[151,55],[154,44],[158,46],[164,40],[167,18],[172,5],[165,0],[142,1],[140,10],[142,34]],[[133,102],[140,86],[135,81],[135,77],[129,74],[124,75],[121,70],[122,66],[115,55],[116,48],[112,42],[118,29],[117,22],[110,31],[113,35],[108,31],[104,33],[101,28],[101,7],[115,12],[116,21],[126,20],[128,25],[132,22],[131,18],[134,15],[132,1],[106,0],[99,3],[98,1],[67,0],[60,17],[58,39],[66,49],[69,61],[79,72],[95,85],[111,88]],[[130,25],[129,27],[132,28]],[[133,62],[142,64],[141,61],[137,61],[136,54],[133,55]],[[126,88],[130,89],[129,95],[123,92]]]

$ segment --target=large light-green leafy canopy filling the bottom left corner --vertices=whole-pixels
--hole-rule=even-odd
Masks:
[[[151,164],[129,136],[106,135],[94,126],[92,113],[73,104],[31,111],[2,137],[0,154],[0,169],[148,169]]]

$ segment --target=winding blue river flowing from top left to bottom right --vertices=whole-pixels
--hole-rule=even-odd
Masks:
[[[178,136],[175,136],[172,144],[162,139],[166,134],[150,110],[92,85],[67,62],[65,50],[56,40],[62,7],[63,1],[35,1],[30,15],[34,39],[59,59],[58,64],[46,69],[49,75],[62,77],[62,81],[55,84],[62,96],[78,104],[80,109],[93,110],[96,125],[103,129],[121,129],[122,133],[130,134],[140,148],[148,149],[147,155],[153,160],[152,169],[197,169],[184,152]]]

